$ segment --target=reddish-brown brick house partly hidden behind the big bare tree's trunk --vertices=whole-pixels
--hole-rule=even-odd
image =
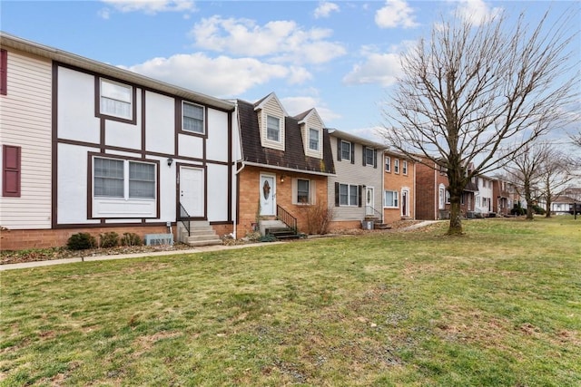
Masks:
[[[416,218],[421,220],[437,220],[449,218],[450,197],[448,192],[448,176],[436,163],[427,165],[418,162],[416,165]],[[478,193],[478,177],[468,181],[460,198],[460,213],[462,217],[474,217],[476,197]]]

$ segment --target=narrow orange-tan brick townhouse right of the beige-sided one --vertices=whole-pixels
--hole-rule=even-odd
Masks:
[[[383,153],[383,221],[416,218],[416,160]]]

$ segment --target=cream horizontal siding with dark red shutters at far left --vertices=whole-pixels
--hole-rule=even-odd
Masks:
[[[20,198],[0,197],[0,225],[50,228],[52,64],[8,50],[7,68],[8,92],[0,96],[0,145],[22,147],[22,179]]]

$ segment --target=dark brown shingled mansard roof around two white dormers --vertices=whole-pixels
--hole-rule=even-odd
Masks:
[[[335,174],[329,135],[326,131],[323,131],[322,160],[305,155],[299,121],[294,117],[285,116],[284,118],[285,150],[264,148],[261,146],[261,130],[256,108],[263,104],[265,99],[256,103],[241,100],[237,102],[243,162],[264,165],[272,169],[294,170],[318,175]]]

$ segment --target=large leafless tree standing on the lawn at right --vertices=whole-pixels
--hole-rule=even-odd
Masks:
[[[549,26],[548,13],[532,27],[522,14],[516,24],[506,15],[478,26],[444,21],[403,54],[380,134],[396,150],[447,170],[448,234],[463,233],[462,191],[497,168],[499,150],[526,146],[564,124],[561,112],[578,95],[577,32],[567,29],[578,17],[572,11]],[[512,156],[504,151],[503,162]]]

